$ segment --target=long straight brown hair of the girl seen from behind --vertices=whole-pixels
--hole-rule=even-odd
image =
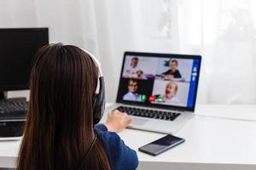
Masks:
[[[102,141],[94,139],[92,99],[97,68],[71,45],[50,44],[36,56],[18,170],[110,169]]]

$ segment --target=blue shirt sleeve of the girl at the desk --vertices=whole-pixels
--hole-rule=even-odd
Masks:
[[[134,170],[137,168],[136,151],[126,146],[117,133],[108,132],[107,127],[97,124],[96,135],[104,144],[112,170]]]

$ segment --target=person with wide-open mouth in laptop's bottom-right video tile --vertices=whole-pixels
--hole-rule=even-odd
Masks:
[[[176,94],[177,94],[177,83],[168,82],[166,84],[165,94],[162,96],[163,102],[169,103],[169,104],[179,104]]]

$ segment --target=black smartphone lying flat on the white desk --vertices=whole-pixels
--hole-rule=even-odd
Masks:
[[[143,145],[138,150],[144,153],[147,153],[151,156],[157,156],[160,153],[171,149],[177,144],[181,144],[185,141],[185,139],[178,138],[176,136],[172,136],[171,134],[166,135],[163,138],[157,139],[150,144]]]

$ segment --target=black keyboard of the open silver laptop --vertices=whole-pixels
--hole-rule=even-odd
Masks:
[[[162,119],[166,121],[174,121],[177,116],[180,115],[180,113],[174,111],[156,111],[127,106],[119,106],[118,108],[116,108],[116,110],[126,112],[128,115],[131,116],[143,116],[154,119]]]

